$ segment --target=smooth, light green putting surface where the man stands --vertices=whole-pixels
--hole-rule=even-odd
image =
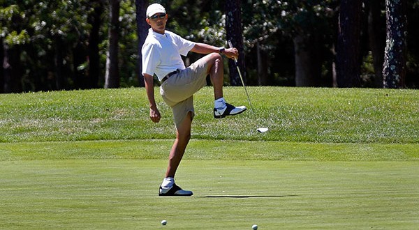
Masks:
[[[166,160],[0,162],[0,229],[419,226],[417,161],[184,160],[177,183],[193,197],[158,197],[165,168]]]

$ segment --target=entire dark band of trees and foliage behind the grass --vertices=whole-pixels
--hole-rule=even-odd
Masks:
[[[157,2],[179,35],[232,40],[249,85],[419,87],[418,1]],[[1,1],[0,93],[143,86],[149,3]],[[229,66],[226,84],[240,85]]]

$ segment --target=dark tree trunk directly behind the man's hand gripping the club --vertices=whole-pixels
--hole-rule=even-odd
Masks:
[[[243,38],[242,38],[242,6],[240,0],[226,1],[226,35],[227,40],[231,40],[233,47],[239,50],[238,65],[242,71],[243,81],[246,83],[246,71],[244,65],[244,49],[243,49]],[[235,63],[232,59],[228,60],[228,68],[230,70],[230,85],[240,86],[239,73],[235,67]]]

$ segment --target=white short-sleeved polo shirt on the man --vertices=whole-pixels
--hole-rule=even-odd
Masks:
[[[196,43],[176,33],[156,33],[151,28],[142,45],[142,74],[154,75],[161,81],[168,73],[185,68],[180,55],[186,56]]]

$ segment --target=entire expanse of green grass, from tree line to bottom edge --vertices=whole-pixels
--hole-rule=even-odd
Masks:
[[[419,91],[249,93],[257,118],[214,119],[212,89],[196,95],[177,173],[195,194],[170,198],[159,95],[158,124],[144,89],[0,95],[0,229],[419,228]]]

